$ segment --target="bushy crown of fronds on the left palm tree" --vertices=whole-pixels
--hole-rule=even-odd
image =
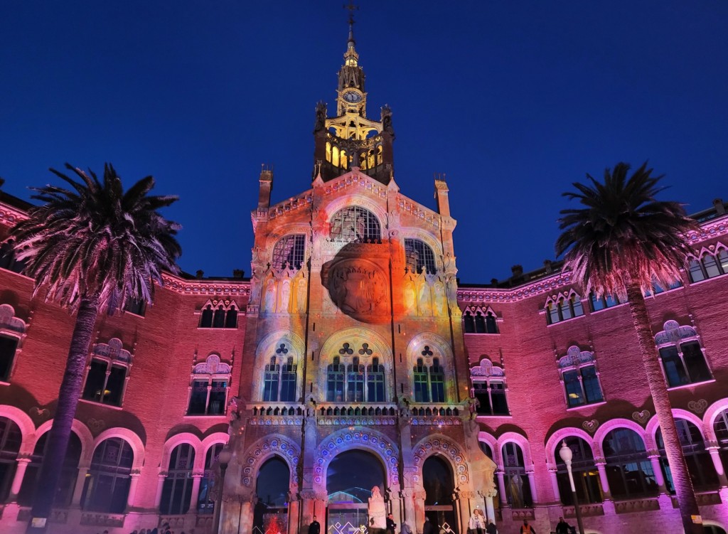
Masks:
[[[66,164],[80,180],[51,169],[70,186],[33,188],[42,204],[12,229],[18,259],[35,278],[36,293],[76,307],[83,297],[123,306],[129,298],[151,302],[162,271],[178,272],[181,248],[175,239],[180,225],[157,210],[175,202],[173,196],[150,196],[148,176],[124,192],[110,164],[103,180]]]

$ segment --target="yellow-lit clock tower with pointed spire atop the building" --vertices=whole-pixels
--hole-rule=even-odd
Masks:
[[[384,106],[379,121],[369,119],[364,82],[354,39],[354,17],[350,16],[347,51],[336,90],[336,117],[328,117],[323,101],[316,106],[314,178],[320,174],[323,181],[329,181],[359,168],[382,184],[389,183],[394,170],[392,110]]]

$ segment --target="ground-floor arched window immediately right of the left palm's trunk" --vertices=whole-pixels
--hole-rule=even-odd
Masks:
[[[121,514],[127,507],[134,452],[121,438],[101,441],[93,453],[84,484],[84,510]]]

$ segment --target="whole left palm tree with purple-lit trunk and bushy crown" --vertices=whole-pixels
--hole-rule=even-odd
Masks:
[[[89,346],[96,317],[108,307],[123,307],[127,299],[151,303],[154,282],[161,285],[162,270],[178,272],[175,260],[181,249],[175,234],[178,224],[157,210],[177,197],[149,196],[154,178],[147,176],[124,192],[121,178],[106,164],[103,182],[94,173],[73,168],[81,181],[50,169],[71,187],[32,188],[33,199],[43,204],[28,211],[28,219],[12,229],[15,251],[27,262],[25,274],[35,279],[33,295],[76,312],[76,325],[58,392],[58,407],[50,429],[36,488],[30,530],[44,530],[50,514],[71,423],[81,395]],[[36,525],[36,526],[33,526]]]

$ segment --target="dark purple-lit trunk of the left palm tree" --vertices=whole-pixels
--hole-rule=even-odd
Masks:
[[[32,518],[47,519],[53,506],[53,498],[58,490],[58,479],[66,458],[68,440],[71,437],[71,425],[79,404],[81,388],[84,381],[84,367],[89,353],[96,316],[98,315],[98,298],[84,297],[76,314],[76,326],[71,338],[71,348],[66,359],[66,372],[58,391],[58,407],[53,417],[53,425],[48,435],[48,445],[43,457],[39,481],[33,497]],[[28,525],[28,533],[40,533],[46,527]]]

